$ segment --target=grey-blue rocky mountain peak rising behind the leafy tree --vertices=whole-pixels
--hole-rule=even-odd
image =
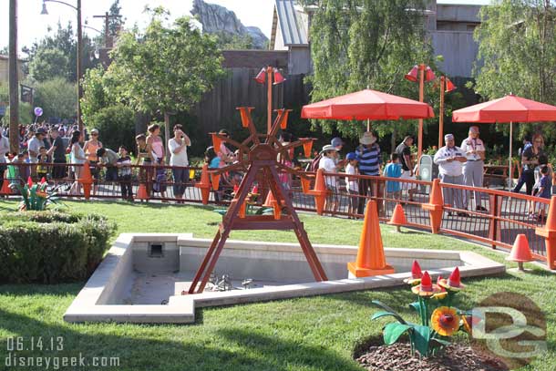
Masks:
[[[197,16],[202,29],[208,33],[225,33],[231,36],[249,36],[252,47],[264,49],[268,45],[268,37],[264,36],[259,27],[243,26],[242,21],[231,10],[221,5],[207,4],[203,0],[194,0],[191,15]],[[269,20],[270,22],[270,20]]]

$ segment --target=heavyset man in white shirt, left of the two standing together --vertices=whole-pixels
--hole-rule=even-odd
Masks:
[[[442,183],[463,185],[463,163],[468,159],[465,152],[456,147],[456,140],[453,134],[444,136],[446,146],[438,149],[434,161],[438,165],[438,178]],[[457,209],[464,210],[463,192],[452,188],[444,188],[444,203],[452,205]],[[448,211],[451,215],[451,211]],[[465,211],[458,211],[458,216],[468,216]]]

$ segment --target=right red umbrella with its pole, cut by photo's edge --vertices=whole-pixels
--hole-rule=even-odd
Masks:
[[[510,123],[510,170],[513,122],[556,121],[556,106],[516,97],[504,98],[461,108],[452,112],[453,122]],[[511,175],[510,175],[511,181]]]

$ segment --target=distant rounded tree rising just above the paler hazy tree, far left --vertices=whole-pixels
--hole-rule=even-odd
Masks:
[[[67,78],[69,61],[57,48],[39,48],[29,63],[29,74],[38,82],[55,77]]]

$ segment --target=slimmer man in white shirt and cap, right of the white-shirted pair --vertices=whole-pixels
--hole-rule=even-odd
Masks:
[[[485,145],[479,139],[479,127],[472,126],[469,128],[469,136],[461,142],[461,150],[465,153],[468,159],[463,165],[463,183],[469,187],[482,188],[483,186],[483,173],[485,167]],[[465,192],[464,206],[468,207],[469,199],[471,196],[470,191]],[[473,210],[487,211],[481,205],[481,192],[473,192]]]

